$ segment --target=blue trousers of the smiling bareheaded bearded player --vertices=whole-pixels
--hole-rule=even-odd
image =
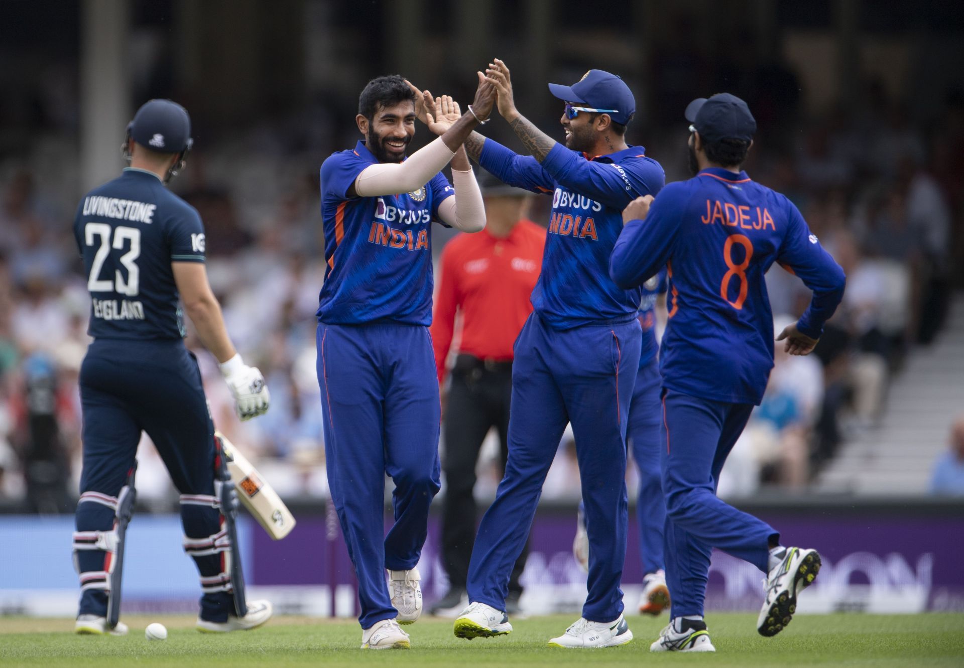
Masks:
[[[393,619],[385,569],[415,568],[440,488],[439,382],[428,329],[318,325],[332,501],[359,580],[362,628]],[[385,535],[385,475],[395,523]]]

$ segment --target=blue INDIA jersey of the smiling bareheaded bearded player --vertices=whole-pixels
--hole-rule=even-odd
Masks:
[[[432,323],[432,234],[439,204],[455,194],[440,174],[412,193],[348,197],[378,158],[359,142],[321,165],[328,272],[318,320],[333,325]]]

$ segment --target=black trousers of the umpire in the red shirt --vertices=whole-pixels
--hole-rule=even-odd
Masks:
[[[451,373],[443,430],[445,495],[442,502],[442,566],[449,586],[465,589],[469,560],[475,543],[477,511],[472,488],[479,449],[492,427],[498,430],[501,469],[508,458],[509,402],[512,398],[512,362],[483,361],[460,355]],[[521,593],[519,576],[525,567],[526,543],[509,577],[509,592]]]

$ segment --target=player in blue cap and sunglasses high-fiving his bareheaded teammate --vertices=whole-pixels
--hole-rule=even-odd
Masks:
[[[626,430],[639,368],[641,293],[608,278],[609,254],[622,209],[662,187],[659,164],[626,143],[635,112],[629,87],[593,69],[573,86],[549,84],[564,102],[566,144],[556,143],[516,109],[508,67],[486,70],[499,114],[530,156],[481,135],[469,155],[500,179],[551,194],[552,217],[534,312],[516,340],[512,367],[509,456],[495,502],[483,517],[469,564],[469,607],[455,621],[458,637],[512,630],[505,596],[542,485],[566,424],[572,422],[589,541],[588,596],[582,617],[552,645],[611,647],[632,639],[619,582],[626,559],[629,504]]]

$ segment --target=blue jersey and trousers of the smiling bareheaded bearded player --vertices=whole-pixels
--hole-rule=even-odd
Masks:
[[[318,382],[329,486],[359,578],[362,628],[393,619],[385,570],[415,568],[440,488],[431,223],[455,194],[442,174],[413,193],[349,198],[375,155],[359,142],[321,166],[328,274]],[[385,474],[395,523],[385,536]]]

